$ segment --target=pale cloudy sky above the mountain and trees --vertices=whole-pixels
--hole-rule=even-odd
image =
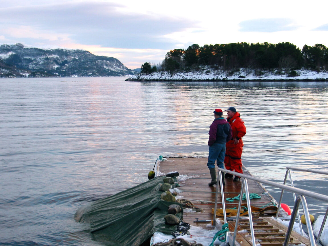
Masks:
[[[0,0],[0,44],[84,49],[130,69],[189,45],[328,47],[328,1]]]

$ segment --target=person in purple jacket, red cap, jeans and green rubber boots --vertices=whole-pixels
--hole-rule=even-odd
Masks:
[[[215,160],[216,165],[219,168],[224,168],[224,156],[225,156],[225,146],[226,142],[228,142],[232,138],[232,129],[228,121],[226,121],[222,117],[222,110],[215,109],[213,111],[215,120],[213,121],[212,125],[210,126],[209,131],[209,139],[208,139],[208,146],[210,146],[208,150],[208,161],[207,166],[210,169],[211,174],[211,183],[209,186],[213,186],[216,184],[216,170],[215,170]],[[222,184],[225,185],[224,182],[224,172],[222,172],[223,180]]]

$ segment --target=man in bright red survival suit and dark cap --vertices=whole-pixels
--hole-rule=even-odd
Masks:
[[[241,153],[243,152],[243,140],[241,138],[246,134],[246,127],[244,121],[240,119],[240,113],[238,113],[235,107],[230,107],[227,110],[227,121],[232,128],[232,139],[226,144],[226,154],[224,158],[224,165],[227,170],[235,171],[237,173],[243,173],[241,170]],[[226,178],[231,178],[234,175],[225,174]],[[240,177],[235,176],[234,181],[239,181]]]

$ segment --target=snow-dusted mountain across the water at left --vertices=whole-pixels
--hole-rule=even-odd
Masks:
[[[136,72],[113,57],[84,50],[26,48],[22,44],[0,46],[0,77],[98,77]]]

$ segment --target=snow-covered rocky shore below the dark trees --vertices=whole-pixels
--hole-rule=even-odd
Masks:
[[[238,69],[235,72],[210,68],[191,72],[139,73],[126,81],[328,81],[328,72],[295,70],[289,73],[280,71],[259,71]]]

